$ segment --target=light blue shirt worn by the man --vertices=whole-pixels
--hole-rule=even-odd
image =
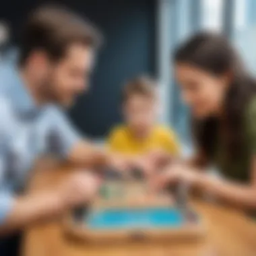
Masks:
[[[80,139],[58,106],[34,104],[18,70],[0,67],[0,225],[40,154],[65,156]]]

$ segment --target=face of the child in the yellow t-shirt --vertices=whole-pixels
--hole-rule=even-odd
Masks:
[[[158,104],[155,98],[132,95],[123,106],[125,121],[136,131],[147,131],[154,125],[158,116]]]

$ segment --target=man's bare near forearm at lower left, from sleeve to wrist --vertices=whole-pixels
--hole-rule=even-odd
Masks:
[[[57,192],[47,191],[18,197],[5,223],[0,224],[0,236],[34,222],[57,216],[64,210],[65,204]]]

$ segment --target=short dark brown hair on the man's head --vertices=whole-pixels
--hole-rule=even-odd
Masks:
[[[97,48],[101,35],[96,28],[65,7],[44,6],[34,10],[22,30],[20,65],[36,50],[45,51],[53,61],[65,55],[73,43]]]

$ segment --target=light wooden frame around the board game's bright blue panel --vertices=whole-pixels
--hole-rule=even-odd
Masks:
[[[128,203],[120,200],[108,200],[100,201],[96,200],[92,205],[93,210],[108,210],[115,207],[119,208],[132,208],[139,207],[166,207],[172,206],[169,201],[163,200],[152,200],[152,201],[136,201],[131,200]],[[191,208],[191,207],[190,207]],[[191,213],[194,214],[193,210]],[[92,230],[87,228],[85,223],[77,222],[74,220],[72,214],[67,214],[64,218],[65,234],[72,236],[73,238],[79,238],[88,243],[98,242],[127,242],[127,241],[156,241],[156,240],[198,240],[205,236],[205,224],[203,219],[200,217],[195,222],[185,222],[184,226],[177,228],[124,228],[122,230]]]

